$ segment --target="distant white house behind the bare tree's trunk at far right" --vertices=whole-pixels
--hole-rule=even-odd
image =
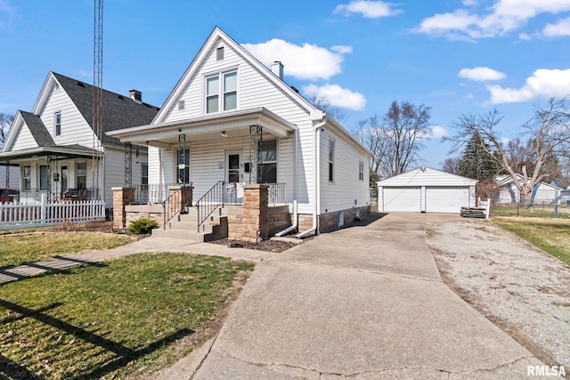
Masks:
[[[517,179],[520,183],[525,179],[521,174],[517,174]],[[495,182],[500,187],[498,203],[518,203],[520,202],[520,191],[515,186],[512,177],[509,174],[500,175],[495,179]],[[534,185],[531,192],[531,200],[533,203],[553,204],[555,202],[561,203],[562,188],[546,182],[538,182]]]

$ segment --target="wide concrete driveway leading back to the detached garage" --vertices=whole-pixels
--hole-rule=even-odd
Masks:
[[[388,214],[265,258],[220,334],[171,376],[528,378],[542,362],[444,285],[424,222]]]

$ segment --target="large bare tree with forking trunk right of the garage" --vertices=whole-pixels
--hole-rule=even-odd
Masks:
[[[509,148],[501,143],[501,135],[497,129],[502,116],[496,109],[482,116],[461,116],[454,123],[457,133],[445,140],[454,141],[454,150],[458,150],[474,133],[479,133],[482,142],[478,148],[485,150],[489,157],[495,159],[497,164],[511,176],[521,194],[521,200],[528,202],[533,187],[553,175],[554,168],[563,172],[570,165],[569,109],[568,98],[561,100],[551,98],[545,106],[535,107],[533,117],[524,125],[525,133],[520,137],[521,141],[517,142],[519,146],[528,146],[524,158],[526,163],[519,167],[515,166],[514,161],[509,160]],[[493,151],[498,154],[493,154]],[[533,166],[528,166],[529,162]],[[517,178],[517,174],[522,175],[522,181]]]

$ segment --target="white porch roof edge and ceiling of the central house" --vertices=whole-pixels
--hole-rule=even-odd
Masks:
[[[248,136],[249,126],[259,125],[263,133],[271,133],[286,138],[297,129],[297,125],[289,123],[265,108],[248,109],[224,115],[195,117],[171,123],[141,125],[133,128],[108,132],[118,137],[121,142],[134,142],[142,145],[171,148],[178,144],[178,136],[186,135],[186,141],[207,141],[227,137]]]

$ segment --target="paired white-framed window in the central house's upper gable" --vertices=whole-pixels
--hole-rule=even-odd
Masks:
[[[230,71],[206,78],[206,113],[238,108],[238,73]]]

